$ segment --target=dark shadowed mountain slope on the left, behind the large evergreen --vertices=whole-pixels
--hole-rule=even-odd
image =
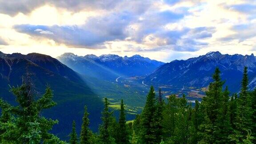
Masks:
[[[46,85],[50,85],[53,90],[53,100],[57,105],[43,113],[46,117],[59,120],[53,133],[64,140],[68,139],[65,136],[70,132],[72,120],[81,124],[84,105],[88,106],[91,113],[91,128],[97,130],[103,105],[101,99],[77,72],[51,56],[0,52],[0,97],[14,104],[14,96],[9,92],[8,85],[20,85],[27,71],[31,74],[36,92],[43,94]]]

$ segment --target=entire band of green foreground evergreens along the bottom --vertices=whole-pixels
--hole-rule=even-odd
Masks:
[[[78,137],[73,121],[69,143],[71,144],[253,144],[256,143],[256,90],[248,90],[247,67],[244,68],[239,94],[223,90],[220,70],[216,68],[206,96],[192,107],[186,96],[176,95],[163,100],[161,89],[151,87],[145,107],[133,122],[126,122],[124,102],[121,100],[119,119],[109,109],[104,99],[102,124],[99,132],[89,128],[85,106],[83,124]],[[18,105],[12,106],[0,100],[0,142],[21,144],[60,144],[57,136],[49,133],[57,120],[40,115],[43,109],[56,105],[52,90],[46,88],[43,96],[35,99],[30,80],[19,87],[12,87]]]

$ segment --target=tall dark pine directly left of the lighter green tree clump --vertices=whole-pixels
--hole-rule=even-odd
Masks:
[[[156,112],[156,98],[154,88],[151,86],[145,107],[141,114],[140,122],[140,140],[142,143],[155,144],[157,143],[156,138],[156,127],[154,121],[154,114]]]

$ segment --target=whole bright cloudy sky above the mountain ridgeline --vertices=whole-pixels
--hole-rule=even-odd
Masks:
[[[0,0],[0,51],[256,54],[256,0]]]

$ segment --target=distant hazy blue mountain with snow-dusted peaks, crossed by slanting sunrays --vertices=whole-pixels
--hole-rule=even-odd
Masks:
[[[64,53],[57,59],[76,72],[104,80],[115,80],[118,76],[148,75],[164,64],[140,55],[132,57],[111,54],[77,56],[73,53]]]

